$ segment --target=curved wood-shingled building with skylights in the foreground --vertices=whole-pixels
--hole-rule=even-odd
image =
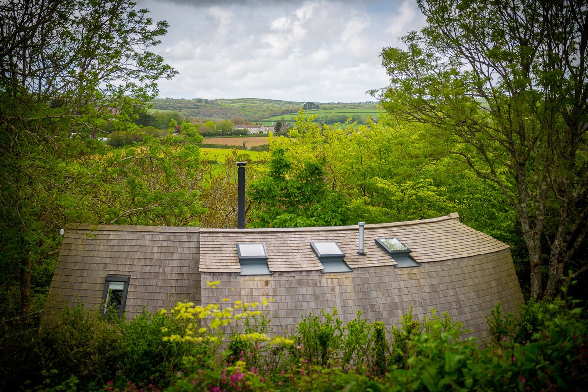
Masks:
[[[82,302],[127,317],[223,298],[257,302],[272,325],[293,332],[300,315],[358,310],[398,325],[449,312],[475,336],[497,303],[516,312],[523,295],[509,247],[459,222],[457,214],[420,221],[343,227],[206,229],[72,225],[66,229],[46,312]],[[363,240],[361,239],[363,238]],[[363,249],[360,249],[360,241]],[[364,255],[361,255],[363,251]],[[220,281],[211,289],[206,282]]]

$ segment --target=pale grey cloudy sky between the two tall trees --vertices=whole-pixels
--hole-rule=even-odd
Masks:
[[[415,0],[139,0],[169,23],[160,97],[365,102],[379,54],[425,25]]]

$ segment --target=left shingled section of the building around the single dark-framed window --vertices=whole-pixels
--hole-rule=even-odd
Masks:
[[[126,316],[200,300],[199,228],[122,225],[68,227],[49,289],[47,311],[102,302],[106,274],[131,275]]]

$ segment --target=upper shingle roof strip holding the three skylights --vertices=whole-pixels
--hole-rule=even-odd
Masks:
[[[365,225],[366,256],[356,252],[358,227],[310,227],[266,229],[201,229],[202,272],[239,272],[237,242],[263,242],[270,271],[315,271],[323,268],[309,243],[335,241],[351,268],[396,265],[376,244],[376,238],[396,237],[412,249],[420,263],[487,254],[508,248],[496,239],[457,220],[457,214],[420,221]]]

